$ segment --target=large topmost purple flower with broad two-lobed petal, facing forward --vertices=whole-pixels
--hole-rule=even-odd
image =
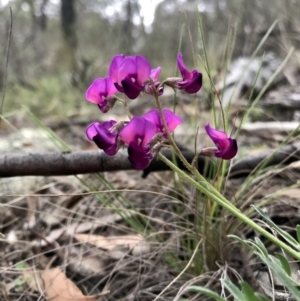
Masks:
[[[117,90],[125,93],[130,99],[137,98],[144,90],[144,84],[150,74],[150,63],[141,55],[127,57],[117,55],[109,68],[109,76]]]

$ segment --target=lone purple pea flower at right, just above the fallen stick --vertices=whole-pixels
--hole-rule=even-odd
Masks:
[[[213,155],[215,157],[230,160],[237,154],[238,146],[235,139],[227,137],[226,133],[223,131],[211,128],[209,124],[205,126],[205,130],[218,148],[213,150]]]

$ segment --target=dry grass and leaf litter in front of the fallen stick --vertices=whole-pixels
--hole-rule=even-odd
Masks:
[[[249,137],[241,141],[243,139],[249,143]],[[260,144],[263,143],[260,140]],[[264,210],[276,223],[292,232],[300,223],[299,187],[295,186],[300,179],[298,165],[294,163],[277,171],[254,181],[239,203],[247,210],[250,204],[273,196]],[[152,301],[185,267],[193,248],[187,248],[184,241],[190,229],[194,229],[202,206],[201,203],[196,206],[196,192],[184,183],[180,183],[180,191],[175,191],[170,179],[177,179],[171,172],[151,174],[146,180],[134,171],[104,173],[103,176],[113,183],[114,189],[126,189],[120,193],[137,212],[120,207],[118,192],[107,192],[109,189],[92,175],[45,178],[26,187],[25,191],[32,191],[26,197],[2,196],[1,300]],[[88,191],[82,181],[105,193],[84,194]],[[233,200],[244,181],[244,178],[228,181],[226,196]],[[282,190],[286,187],[290,189]],[[130,189],[133,191],[128,191]],[[282,192],[277,195],[278,191]],[[113,209],[116,204],[125,215]],[[140,216],[146,220],[139,219]],[[221,214],[220,218],[230,217]],[[252,218],[257,216],[253,214]],[[143,233],[131,227],[132,220],[143,225]],[[226,226],[234,222],[229,219]],[[244,227],[238,229],[237,234],[247,238],[254,235]],[[278,251],[265,243],[271,252]],[[220,252],[217,264],[213,262],[200,274],[187,271],[161,300],[179,300],[180,289],[187,284],[220,291],[219,279],[223,274],[236,279],[233,270],[255,286],[254,275],[261,272],[257,261],[243,248],[235,248],[237,251],[232,252],[232,241],[224,237],[218,249],[212,249]],[[202,256],[200,252],[198,257]],[[205,299],[201,297],[201,300]]]

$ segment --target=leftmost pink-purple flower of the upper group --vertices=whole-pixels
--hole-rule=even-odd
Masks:
[[[86,91],[86,99],[98,105],[106,113],[116,102],[114,94],[118,92],[110,77],[97,78]]]

